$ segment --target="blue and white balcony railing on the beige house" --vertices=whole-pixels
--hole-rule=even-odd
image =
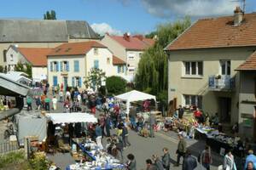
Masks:
[[[230,91],[235,88],[235,78],[229,75],[210,76],[208,84],[214,91]]]

